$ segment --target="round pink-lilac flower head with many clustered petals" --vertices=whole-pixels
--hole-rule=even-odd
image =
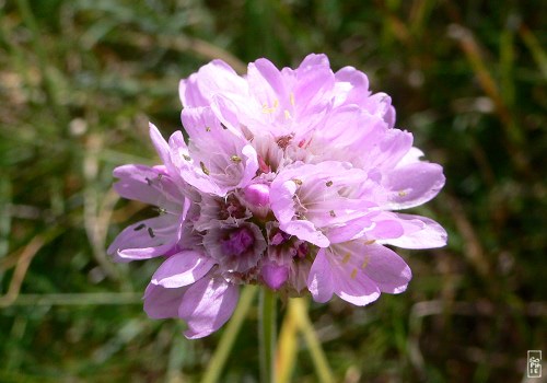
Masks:
[[[213,60],[181,81],[179,96],[188,141],[150,125],[162,164],[114,171],[120,196],[161,212],[108,248],[120,262],[164,258],[144,293],[151,317],[207,336],[244,283],[365,305],[411,278],[385,245],[445,245],[437,222],[396,212],[433,198],[442,167],[420,160],[389,96],[359,70],[333,72],[310,55],[296,69],[259,59],[240,77]]]

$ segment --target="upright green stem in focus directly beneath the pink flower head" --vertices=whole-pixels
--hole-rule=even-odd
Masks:
[[[276,293],[264,287],[260,291],[260,382],[274,383],[276,357]]]

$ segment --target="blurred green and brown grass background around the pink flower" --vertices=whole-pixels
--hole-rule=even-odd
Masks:
[[[0,1],[0,381],[199,380],[221,334],[148,320],[156,264],[104,254],[141,208],[112,170],[154,162],[148,120],[179,128],[178,80],[202,63],[311,51],[391,94],[447,177],[417,211],[449,246],[403,253],[406,293],[311,306],[337,380],[523,380],[547,351],[545,20],[544,1]],[[223,381],[257,380],[256,312],[244,326]]]

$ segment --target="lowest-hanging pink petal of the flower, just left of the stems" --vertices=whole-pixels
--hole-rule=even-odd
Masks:
[[[178,309],[186,321],[188,339],[202,338],[219,329],[232,316],[237,304],[237,287],[223,278],[201,278],[188,288]]]

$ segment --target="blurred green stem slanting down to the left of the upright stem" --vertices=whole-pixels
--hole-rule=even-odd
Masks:
[[[255,298],[256,286],[246,286],[243,289],[243,292],[240,298],[240,303],[237,304],[237,309],[235,310],[230,323],[224,329],[222,334],[222,338],[220,339],[219,346],[214,350],[214,355],[209,361],[209,365],[207,365],[207,371],[203,378],[201,379],[202,383],[213,383],[219,380],[220,373],[224,368],[224,364],[228,360],[228,356],[232,350],[234,345],[234,340],[240,333],[241,326],[247,316],[248,310],[251,309],[251,304]]]

